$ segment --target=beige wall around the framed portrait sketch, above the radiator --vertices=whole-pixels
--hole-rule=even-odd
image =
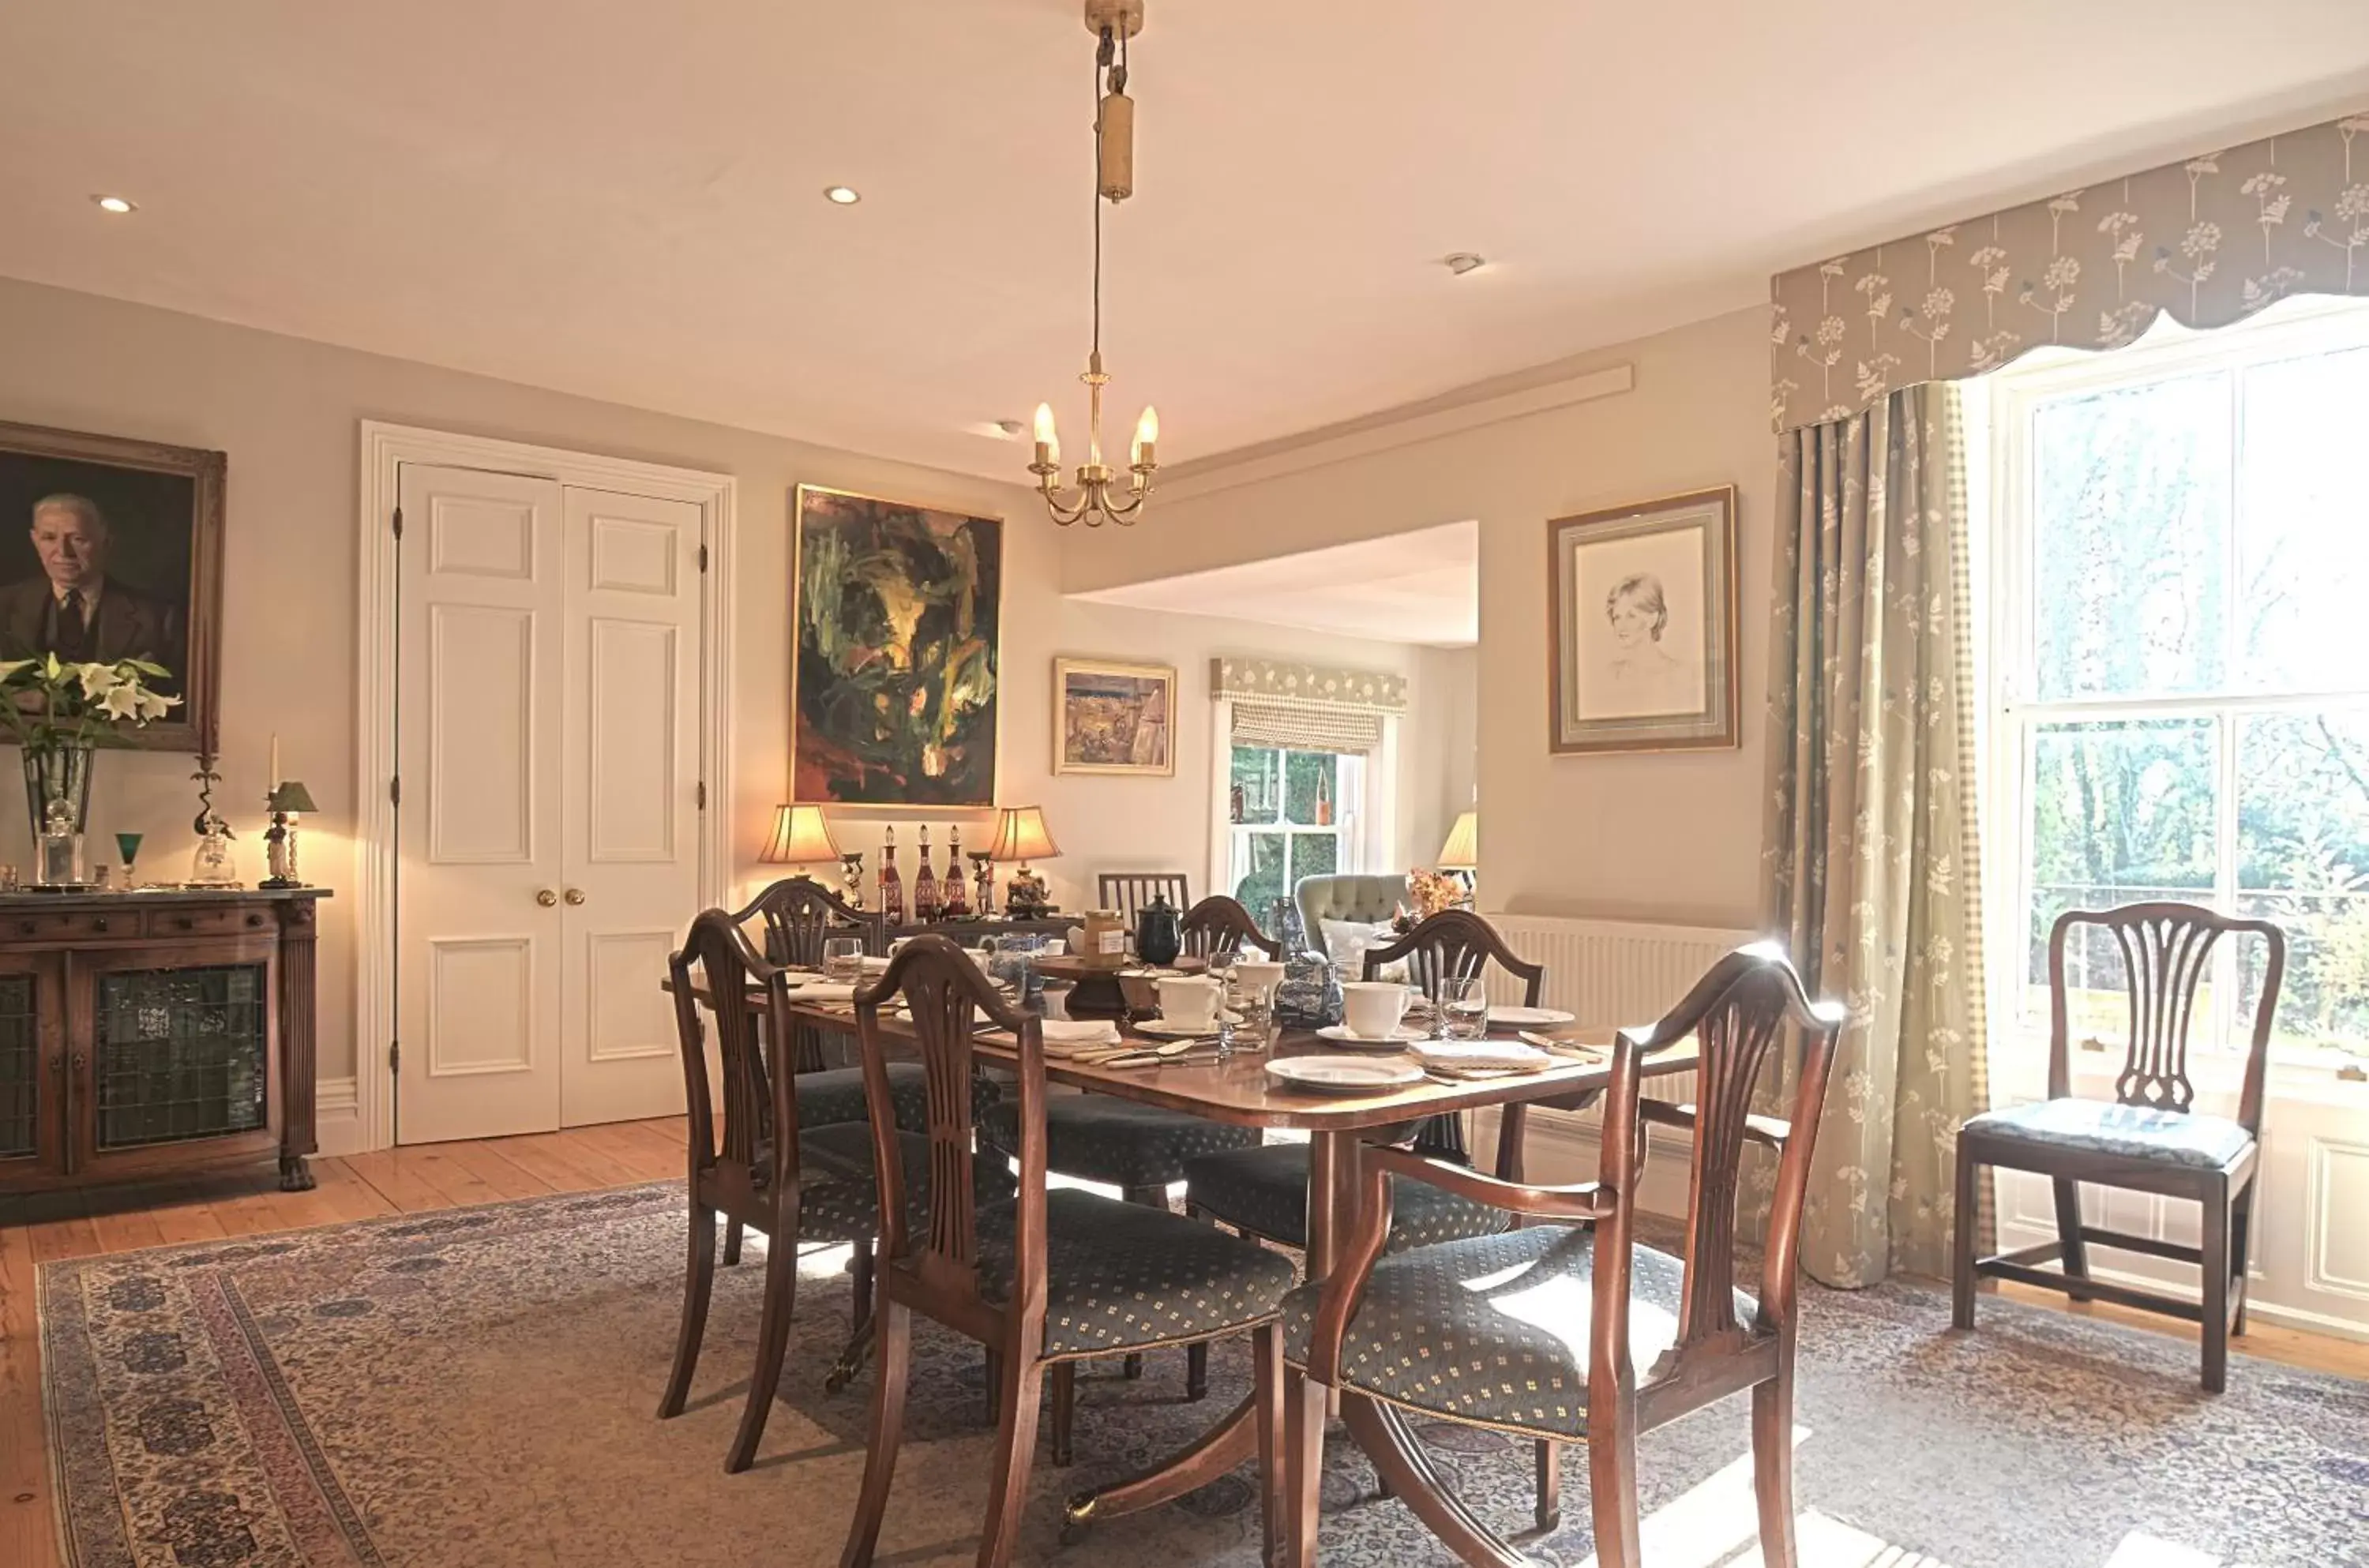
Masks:
[[[1774,441],[1767,310],[1739,310],[1575,362],[1635,388],[1542,415],[1173,502],[1161,554],[1099,540],[1073,587],[1481,519],[1478,791],[1485,905],[1748,926],[1760,872],[1763,692]],[[1552,516],[1734,483],[1741,535],[1739,751],[1547,753]],[[1440,741],[1445,744],[1445,741]],[[1421,855],[1436,853],[1429,846]]]

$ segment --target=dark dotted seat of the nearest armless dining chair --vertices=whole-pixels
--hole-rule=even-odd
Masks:
[[[1012,1206],[978,1215],[978,1281],[1012,1286]],[[1045,1194],[1045,1355],[1111,1355],[1267,1317],[1296,1270],[1282,1253],[1166,1208],[1057,1187]]]

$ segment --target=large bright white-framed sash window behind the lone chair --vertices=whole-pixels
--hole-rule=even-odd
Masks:
[[[2044,1037],[2059,912],[2177,898],[2286,931],[2279,1056],[2369,1056],[2369,313],[2018,367],[1990,396],[2002,1016]],[[2075,1040],[2127,1026],[2099,943],[2068,955]],[[2215,962],[2191,1040],[2241,1052],[2260,943]]]

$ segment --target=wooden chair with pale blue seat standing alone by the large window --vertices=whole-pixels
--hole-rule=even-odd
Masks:
[[[2113,938],[2130,1009],[2130,1042],[2113,1099],[2073,1094],[2073,1023],[2066,943],[2085,928]],[[2189,1023],[2196,990],[2224,936],[2258,936],[2265,947],[2262,990],[2253,1004],[2253,1040],[2239,1085],[2236,1120],[2196,1111],[2189,1080]],[[2229,1381],[2229,1336],[2246,1331],[2246,1255],[2253,1244],[2253,1194],[2262,1156],[2262,1080],[2270,1026],[2286,978],[2286,933],[2260,919],[2232,919],[2182,902],[2118,910],[2068,910],[2049,926],[2049,1097],[1973,1116],[1957,1135],[1957,1262],[1950,1277],[1952,1322],[1973,1326],[1976,1279],[2016,1279],[2063,1291],[2073,1300],[2111,1300],[2201,1324],[2203,1388]],[[2111,981],[2108,981],[2111,983]],[[1976,1206],[1983,1165],[2044,1175],[2056,1187],[2056,1241],[1976,1258]],[[2201,1246],[2132,1236],[2085,1225],[2080,1184],[2120,1187],[2203,1208]],[[2201,1300],[2092,1279],[2089,1246],[2194,1262]],[[2059,1270],[2042,1270],[2059,1262]]]

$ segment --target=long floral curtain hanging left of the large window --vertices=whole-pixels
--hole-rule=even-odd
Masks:
[[[1947,1274],[1957,1127],[1990,1099],[1957,391],[1781,445],[1765,924],[1850,1009],[1800,1255],[1834,1286]]]

